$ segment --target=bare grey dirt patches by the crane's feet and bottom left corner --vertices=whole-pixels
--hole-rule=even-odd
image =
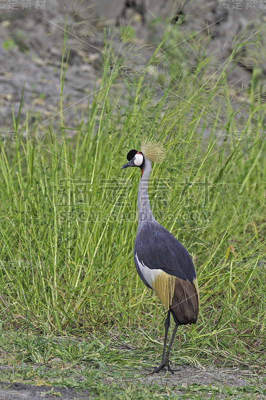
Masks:
[[[1,369],[4,366],[1,365]],[[182,387],[186,388],[188,385],[193,383],[199,385],[205,385],[206,387],[216,386],[216,387],[243,387],[252,385],[256,382],[256,384],[260,383],[263,377],[258,376],[257,374],[253,374],[251,371],[247,370],[239,370],[236,368],[228,368],[228,367],[206,367],[204,369],[198,368],[192,365],[177,365],[174,366],[176,369],[179,369],[175,372],[174,375],[171,373],[160,372],[159,374],[152,375],[148,370],[138,370],[136,374],[136,378],[127,379],[127,384],[131,382],[140,382],[142,384],[151,384],[152,382],[156,382],[160,386],[169,386],[174,387],[176,385],[182,385]],[[12,368],[6,365],[6,368]],[[117,386],[122,383],[124,384],[123,379],[121,380],[114,378],[104,378],[104,383],[106,385],[112,385],[114,382]],[[105,386],[106,387],[106,386]],[[176,390],[177,394],[182,394],[181,390]],[[104,391],[103,393],[104,394]],[[183,393],[184,394],[184,393]],[[7,383],[0,382],[0,398],[2,400],[12,399],[12,400],[36,400],[43,399],[49,400],[54,399],[56,396],[61,396],[65,400],[77,399],[77,400],[88,400],[90,397],[90,392],[84,389],[78,388],[65,388],[65,387],[57,387],[57,386],[35,386],[33,384],[24,384],[20,382],[16,383]],[[217,397],[222,398],[222,397]],[[259,397],[260,399],[266,398],[263,395]]]

